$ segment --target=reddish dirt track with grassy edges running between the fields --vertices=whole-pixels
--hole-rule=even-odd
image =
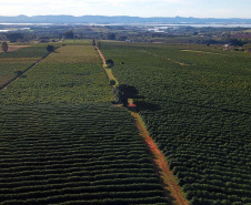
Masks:
[[[97,48],[97,47],[96,47]],[[102,52],[97,48],[98,53],[102,60],[102,66],[109,78],[109,80],[114,80],[116,78],[112,74],[112,79],[108,73],[108,69],[106,69],[106,59]],[[118,80],[116,79],[118,82]],[[163,186],[164,195],[169,199],[170,205],[189,205],[185,198],[181,194],[181,188],[177,184],[174,176],[172,175],[172,171],[169,168],[167,160],[162,152],[159,150],[152,137],[150,136],[147,127],[141,119],[140,114],[137,112],[137,105],[133,103],[132,99],[129,99],[130,114],[134,121],[135,127],[139,130],[141,136],[143,137],[145,145],[150,151],[150,156],[152,160],[152,164],[154,170],[159,176],[160,184]]]

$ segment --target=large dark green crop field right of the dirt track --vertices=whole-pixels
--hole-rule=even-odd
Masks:
[[[251,55],[192,44],[102,43],[190,204],[251,203]]]

